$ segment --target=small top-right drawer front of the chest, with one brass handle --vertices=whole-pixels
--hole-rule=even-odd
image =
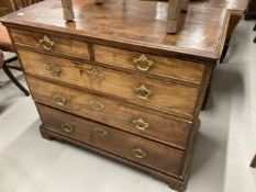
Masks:
[[[201,84],[204,65],[121,48],[93,45],[96,61]]]

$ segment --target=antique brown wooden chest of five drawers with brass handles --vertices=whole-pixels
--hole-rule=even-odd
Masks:
[[[230,13],[191,3],[182,31],[169,35],[167,7],[74,0],[76,20],[66,23],[60,1],[46,0],[1,21],[44,138],[118,159],[182,191]]]

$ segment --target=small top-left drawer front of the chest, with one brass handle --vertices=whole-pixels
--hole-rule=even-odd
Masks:
[[[90,59],[86,42],[14,29],[11,29],[11,34],[14,43],[19,45]]]

